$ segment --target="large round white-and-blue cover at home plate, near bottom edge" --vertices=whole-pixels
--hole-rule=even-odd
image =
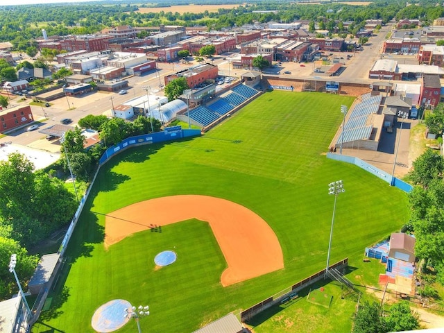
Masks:
[[[96,332],[114,332],[128,323],[129,318],[125,316],[125,309],[131,307],[126,300],[110,300],[96,309],[92,316],[91,325]]]

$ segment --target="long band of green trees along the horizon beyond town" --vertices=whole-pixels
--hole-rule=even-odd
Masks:
[[[413,1],[414,3],[415,1]],[[418,1],[416,1],[418,3]],[[184,4],[184,3],[180,3]],[[0,6],[0,41],[12,42],[14,48],[26,51],[31,40],[42,38],[42,28],[48,35],[82,35],[96,33],[111,26],[159,26],[160,24],[183,24],[185,26],[207,26],[213,30],[253,24],[255,22],[294,22],[307,20],[324,22],[329,30],[332,22],[353,22],[350,33],[364,26],[366,19],[418,19],[430,24],[433,19],[444,16],[442,6],[433,1],[420,1],[421,6],[405,6],[395,0],[377,0],[368,6],[347,3],[318,5],[294,4],[271,1],[243,4],[237,8],[219,8],[217,12],[203,10],[200,13],[139,12],[137,4],[126,6],[115,3],[101,5],[78,4],[52,6]],[[278,12],[253,12],[256,10],[278,10]]]

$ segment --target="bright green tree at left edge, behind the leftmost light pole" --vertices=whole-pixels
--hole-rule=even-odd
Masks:
[[[0,237],[0,265],[8,267],[12,254],[17,255],[15,271],[19,277],[22,287],[26,288],[28,281],[37,267],[38,257],[28,255],[26,248],[20,246],[18,241],[6,237]],[[7,268],[0,270],[0,300],[10,298],[12,294],[18,293],[17,283],[14,275]]]

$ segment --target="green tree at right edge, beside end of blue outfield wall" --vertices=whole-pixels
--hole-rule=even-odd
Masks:
[[[427,189],[433,180],[443,178],[444,157],[432,149],[427,149],[412,164],[408,179],[415,185]]]

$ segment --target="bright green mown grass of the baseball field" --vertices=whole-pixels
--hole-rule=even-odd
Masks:
[[[151,307],[142,331],[186,333],[246,309],[324,268],[334,200],[327,192],[335,180],[343,180],[345,193],[337,199],[330,262],[357,258],[365,246],[398,230],[408,219],[407,196],[325,157],[342,121],[340,106],[351,103],[347,96],[267,92],[203,137],[114,157],[94,184],[67,250],[59,293],[42,322],[51,330],[92,332],[95,309],[123,298]],[[225,260],[209,225],[196,220],[103,248],[103,214],[176,194],[226,198],[262,216],[280,241],[285,268],[221,287]],[[177,262],[155,271],[155,255],[171,249]],[[33,332],[47,332],[46,325]],[[119,332],[135,330],[130,322]]]

